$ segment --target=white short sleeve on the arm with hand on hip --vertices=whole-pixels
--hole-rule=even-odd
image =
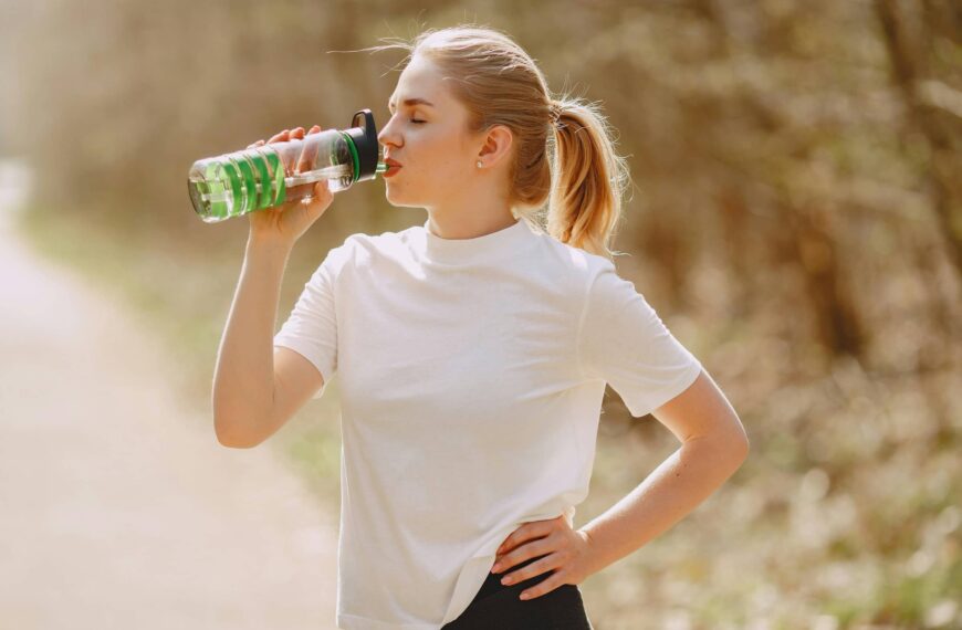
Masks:
[[[688,389],[701,363],[605,261],[586,290],[578,333],[582,372],[604,379],[640,418]]]

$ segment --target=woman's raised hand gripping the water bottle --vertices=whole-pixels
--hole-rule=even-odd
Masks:
[[[320,134],[321,127],[314,125],[307,133]],[[304,127],[297,127],[290,132],[284,129],[268,140],[268,144],[283,143],[292,138],[303,139]],[[258,140],[249,145],[248,148],[251,149],[263,145],[264,140]],[[297,160],[294,172],[304,172],[310,168],[312,162],[311,156],[302,155],[301,159]],[[284,203],[248,212],[252,238],[281,240],[293,245],[307,231],[307,228],[313,225],[314,221],[327,210],[327,207],[331,206],[334,199],[334,193],[327,188],[326,179],[314,183],[293,186],[286,192],[287,201]],[[310,200],[304,199],[307,195],[311,196]]]

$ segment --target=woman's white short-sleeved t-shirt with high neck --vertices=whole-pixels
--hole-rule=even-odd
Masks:
[[[519,220],[333,249],[274,337],[339,376],[337,627],[437,630],[521,524],[588,494],[605,384],[641,417],[699,360],[604,256]]]

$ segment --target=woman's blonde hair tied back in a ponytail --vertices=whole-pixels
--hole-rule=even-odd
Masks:
[[[615,153],[599,107],[582,98],[555,98],[531,56],[506,34],[461,24],[428,29],[412,42],[383,39],[439,67],[451,94],[468,109],[469,132],[504,125],[514,135],[510,167],[512,210],[537,231],[534,217],[547,201],[546,231],[563,243],[603,255],[621,217],[629,179]],[[554,174],[554,176],[553,176]]]

